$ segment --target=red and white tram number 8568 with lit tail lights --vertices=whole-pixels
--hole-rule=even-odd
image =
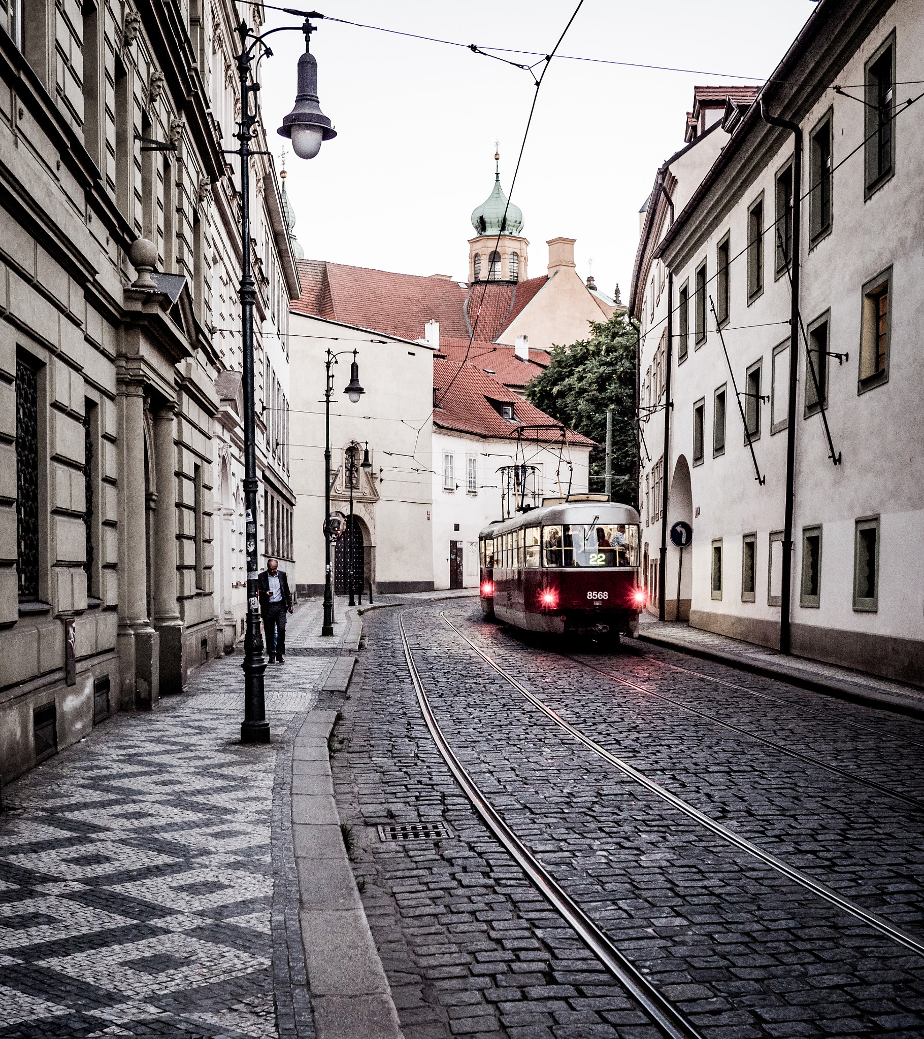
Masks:
[[[546,498],[543,507],[479,534],[481,610],[517,628],[554,634],[634,634],[639,517],[605,495]]]

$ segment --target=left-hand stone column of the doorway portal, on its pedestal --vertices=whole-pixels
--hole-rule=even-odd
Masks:
[[[158,696],[158,638],[148,617],[144,383],[118,379],[118,650],[122,707],[151,709]],[[151,459],[149,459],[151,461]]]

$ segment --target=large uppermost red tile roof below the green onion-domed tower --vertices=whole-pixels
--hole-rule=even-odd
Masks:
[[[422,339],[428,321],[440,336],[492,343],[548,282],[476,282],[466,288],[444,277],[396,274],[325,260],[297,260],[301,297],[292,310],[402,339]],[[480,310],[480,316],[478,312]],[[476,324],[477,316],[477,324]]]

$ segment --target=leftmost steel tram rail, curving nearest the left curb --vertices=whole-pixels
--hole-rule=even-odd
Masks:
[[[417,700],[437,749],[472,806],[546,900],[625,988],[626,992],[638,1004],[661,1033],[668,1039],[704,1039],[703,1033],[698,1031],[696,1025],[665,998],[657,986],[623,955],[606,932],[598,927],[593,920],[567,895],[549,870],[506,824],[500,812],[469,775],[455,751],[449,745],[423,687],[404,629],[404,613],[410,611],[405,610],[398,614],[398,632],[401,636],[401,645]],[[463,637],[465,638],[465,636]]]

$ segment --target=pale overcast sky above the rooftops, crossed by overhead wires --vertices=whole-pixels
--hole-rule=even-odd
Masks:
[[[320,7],[353,22],[546,53],[575,3],[320,0]],[[529,274],[545,273],[548,239],[576,238],[579,274],[586,277],[592,259],[598,286],[611,293],[618,282],[625,300],[638,210],[657,167],[683,145],[694,84],[759,82],[743,77],[768,76],[814,7],[810,0],[584,0],[559,53],[694,72],[552,61],[512,193],[530,241]],[[267,28],[298,21],[266,14]],[[310,162],[287,159],[306,256],[466,278],[471,212],[493,186],[495,139],[509,193],[532,79],[461,47],[318,25],[318,92],[338,137]],[[261,62],[264,117],[278,158],[286,141],[275,128],[294,102],[302,38],[276,33],[274,56]]]

